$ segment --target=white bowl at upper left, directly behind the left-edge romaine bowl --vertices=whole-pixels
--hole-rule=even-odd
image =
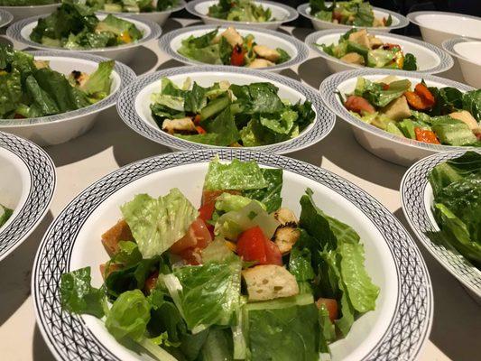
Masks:
[[[138,42],[134,42],[131,44],[110,46],[107,48],[69,50],[60,47],[42,45],[38,42],[33,42],[30,39],[30,34],[32,33],[33,28],[37,26],[38,19],[41,17],[44,16],[32,16],[28,19],[13,23],[6,30],[6,35],[12,40],[14,40],[14,42],[18,42],[23,46],[28,46],[33,49],[39,49],[44,51],[54,50],[63,52],[65,54],[94,54],[128,63],[134,58],[135,52],[138,50],[139,46],[143,46],[148,44],[149,42],[153,42],[162,34],[162,29],[157,23],[153,23],[147,20],[134,19],[131,17],[118,16],[126,21],[134,23],[137,29],[143,32],[142,39],[140,39]],[[97,14],[97,17],[102,20],[106,18],[106,14]]]

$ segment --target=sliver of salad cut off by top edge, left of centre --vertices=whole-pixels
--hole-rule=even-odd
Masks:
[[[178,0],[87,0],[86,5],[110,13],[152,13],[169,10]]]

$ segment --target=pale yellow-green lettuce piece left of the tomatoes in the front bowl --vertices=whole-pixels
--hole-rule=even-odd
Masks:
[[[177,188],[158,199],[139,194],[121,210],[143,258],[162,255],[186,234],[199,215]]]

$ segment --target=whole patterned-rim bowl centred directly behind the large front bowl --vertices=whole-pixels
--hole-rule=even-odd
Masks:
[[[163,132],[155,124],[151,114],[151,94],[160,92],[161,79],[169,78],[182,85],[185,79],[197,81],[201,87],[210,87],[216,81],[227,80],[233,84],[245,85],[254,82],[270,82],[279,88],[279,96],[290,100],[292,104],[298,100],[309,100],[316,112],[314,121],[301,134],[282,143],[249,147],[250,150],[262,150],[272,153],[291,153],[318,143],[334,127],[335,116],[323,106],[319,93],[313,88],[301,84],[297,80],[283,77],[267,71],[240,67],[203,66],[180,67],[157,71],[137,78],[120,95],[117,111],[125,124],[147,139],[161,143],[175,150],[195,150],[203,148],[220,148],[214,145],[194,143]]]

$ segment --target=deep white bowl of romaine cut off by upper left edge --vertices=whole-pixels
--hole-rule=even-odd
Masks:
[[[51,69],[68,75],[72,70],[92,73],[98,63],[108,59],[96,55],[75,54],[57,51],[32,51],[37,60],[49,60]],[[126,65],[116,61],[112,71],[110,95],[91,106],[86,106],[54,116],[28,119],[0,119],[0,130],[23,136],[39,145],[65,143],[86,133],[94,125],[98,114],[116,104],[123,88],[134,81],[135,73]]]

